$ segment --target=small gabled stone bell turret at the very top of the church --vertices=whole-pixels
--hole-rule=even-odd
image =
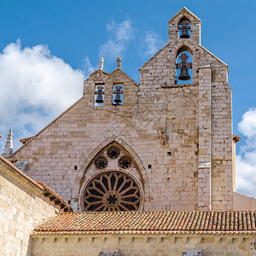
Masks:
[[[176,44],[177,40],[189,40],[191,43],[201,44],[201,20],[185,7],[168,22],[168,25],[168,42]]]

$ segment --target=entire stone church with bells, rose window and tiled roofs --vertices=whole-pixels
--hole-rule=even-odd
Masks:
[[[15,153],[6,145],[5,179],[37,186],[31,204],[44,204],[21,255],[256,255],[256,200],[236,193],[229,70],[201,46],[201,20],[183,8],[168,22],[139,84],[120,57],[112,73],[103,61],[79,101]]]

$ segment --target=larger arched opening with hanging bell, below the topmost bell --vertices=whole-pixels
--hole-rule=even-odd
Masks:
[[[188,46],[177,50],[175,84],[193,84],[193,55]]]

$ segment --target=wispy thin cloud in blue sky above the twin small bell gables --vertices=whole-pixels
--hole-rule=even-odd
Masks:
[[[100,47],[100,56],[105,59],[114,59],[124,55],[129,42],[134,38],[134,29],[131,20],[124,20],[121,23],[112,21],[107,24],[110,38]]]

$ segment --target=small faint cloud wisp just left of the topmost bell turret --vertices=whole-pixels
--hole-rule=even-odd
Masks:
[[[145,51],[144,55],[154,55],[161,47],[163,46],[163,42],[159,35],[157,35],[153,31],[148,31],[145,33]]]

